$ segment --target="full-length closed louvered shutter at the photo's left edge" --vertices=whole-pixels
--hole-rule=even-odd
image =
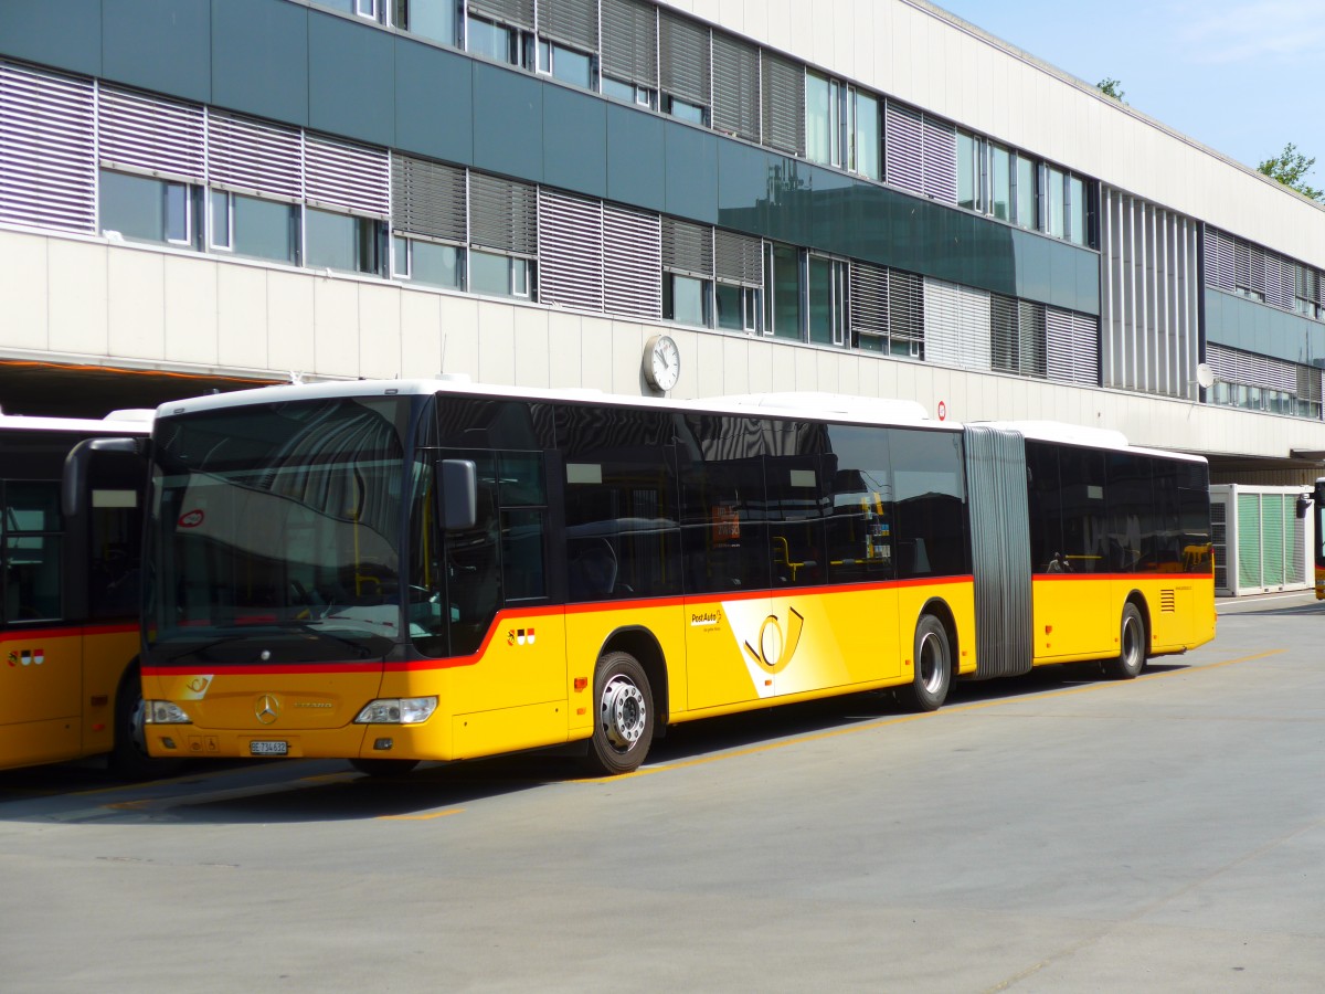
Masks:
[[[0,62],[0,220],[97,229],[93,85]]]

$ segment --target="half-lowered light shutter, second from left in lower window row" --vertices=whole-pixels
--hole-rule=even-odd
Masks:
[[[97,94],[97,154],[109,168],[204,183],[201,106],[102,86]]]

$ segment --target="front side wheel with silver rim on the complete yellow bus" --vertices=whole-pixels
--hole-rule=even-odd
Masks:
[[[653,692],[639,660],[608,652],[594,672],[594,734],[584,766],[599,777],[637,770],[653,741]]]

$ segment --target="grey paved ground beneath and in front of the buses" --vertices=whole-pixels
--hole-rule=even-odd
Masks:
[[[0,990],[1317,991],[1325,608],[1132,683],[963,685],[523,757],[0,774]]]

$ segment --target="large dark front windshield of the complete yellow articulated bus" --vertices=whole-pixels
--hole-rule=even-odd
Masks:
[[[154,664],[380,659],[400,632],[400,398],[163,419],[154,445]]]

